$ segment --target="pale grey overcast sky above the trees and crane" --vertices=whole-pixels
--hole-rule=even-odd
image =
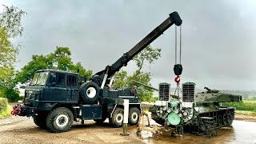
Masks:
[[[27,15],[17,69],[32,54],[49,54],[56,46],[68,46],[74,62],[94,73],[103,70],[178,11],[182,23],[182,82],[197,87],[256,90],[256,2],[215,1],[40,1],[0,0],[18,6]],[[174,26],[152,42],[162,57],[150,67],[152,85],[174,83]],[[130,74],[134,63],[123,70]]]

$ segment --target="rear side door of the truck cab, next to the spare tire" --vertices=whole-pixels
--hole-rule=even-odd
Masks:
[[[66,101],[78,102],[78,77],[73,74],[67,74]]]

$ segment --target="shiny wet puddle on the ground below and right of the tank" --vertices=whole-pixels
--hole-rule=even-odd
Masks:
[[[141,137],[140,137],[141,138]],[[208,138],[196,134],[184,134],[182,137],[170,137],[170,133],[161,134],[159,139],[141,138],[145,143],[255,143],[256,122],[234,121],[232,126],[218,129],[217,136]]]

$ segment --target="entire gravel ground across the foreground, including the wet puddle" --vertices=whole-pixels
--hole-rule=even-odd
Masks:
[[[143,139],[136,135],[136,130],[129,126],[130,135],[121,136],[122,128],[112,128],[106,120],[102,126],[94,121],[86,121],[85,125],[74,122],[68,132],[53,134],[36,126],[32,118],[10,116],[0,119],[0,143],[256,143],[256,122],[235,120],[212,138],[195,134],[175,138],[163,133],[159,140]]]

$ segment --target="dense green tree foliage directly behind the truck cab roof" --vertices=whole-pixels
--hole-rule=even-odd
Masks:
[[[16,82],[27,82],[33,77],[35,71],[42,69],[58,69],[72,72],[77,72],[79,69],[79,76],[86,75],[86,78],[90,78],[92,71],[84,69],[81,62],[74,64],[70,56],[70,49],[60,46],[57,46],[53,53],[47,55],[33,55],[32,60],[18,72]]]

